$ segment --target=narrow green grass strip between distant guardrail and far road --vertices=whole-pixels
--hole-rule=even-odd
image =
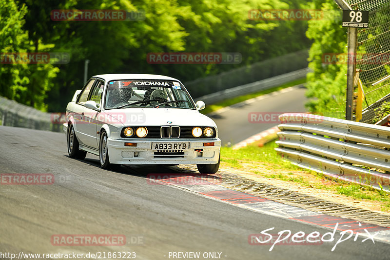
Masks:
[[[301,80],[293,80],[293,81],[288,82],[286,84],[283,84],[283,85],[280,85],[280,86],[277,86],[277,87],[273,87],[273,88],[270,88],[270,89],[267,89],[267,90],[259,91],[259,92],[253,93],[253,94],[239,96],[239,97],[236,97],[236,98],[233,98],[233,99],[229,99],[229,100],[224,100],[224,101],[212,104],[212,105],[207,105],[206,108],[203,109],[203,110],[200,110],[200,112],[202,114],[209,114],[209,113],[214,112],[214,111],[216,111],[218,109],[221,109],[221,108],[224,108],[224,107],[227,107],[227,106],[231,106],[231,105],[234,105],[236,103],[239,103],[239,102],[242,102],[242,101],[245,101],[245,100],[250,100],[250,99],[253,99],[253,98],[256,98],[256,97],[259,97],[259,96],[262,96],[262,95],[265,95],[265,94],[268,94],[268,93],[271,93],[271,92],[274,92],[274,91],[278,91],[278,90],[281,90],[281,89],[284,89],[284,88],[287,88],[287,87],[303,84],[305,82],[306,82],[306,78],[301,79]]]

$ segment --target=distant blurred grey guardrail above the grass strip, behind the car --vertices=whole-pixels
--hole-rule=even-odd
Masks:
[[[308,74],[311,71],[312,70],[310,68],[304,68],[293,72],[285,73],[279,76],[275,76],[266,80],[259,80],[253,83],[237,86],[234,88],[217,91],[213,94],[196,98],[195,102],[198,100],[202,100],[206,104],[214,104],[222,100],[232,99],[242,95],[247,95],[258,91],[267,90],[288,83],[292,80],[299,80],[305,78],[306,74]]]

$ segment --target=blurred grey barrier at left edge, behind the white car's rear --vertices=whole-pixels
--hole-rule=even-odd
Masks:
[[[0,125],[25,127],[59,132],[59,124],[53,124],[51,114],[23,105],[15,100],[0,97]]]

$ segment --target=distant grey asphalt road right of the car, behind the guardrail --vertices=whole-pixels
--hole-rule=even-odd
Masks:
[[[276,121],[251,120],[251,113],[260,112],[264,119],[286,112],[306,112],[306,88],[297,85],[258,98],[234,104],[208,115],[218,127],[222,145],[236,144],[278,124]],[[207,105],[207,104],[206,104]],[[249,117],[248,117],[249,115]],[[268,116],[268,118],[267,118]]]

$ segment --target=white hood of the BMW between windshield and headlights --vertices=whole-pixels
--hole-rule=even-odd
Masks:
[[[104,113],[131,125],[188,125],[214,126],[215,122],[197,110],[180,108],[122,108],[106,110]],[[170,123],[172,122],[172,123]]]

